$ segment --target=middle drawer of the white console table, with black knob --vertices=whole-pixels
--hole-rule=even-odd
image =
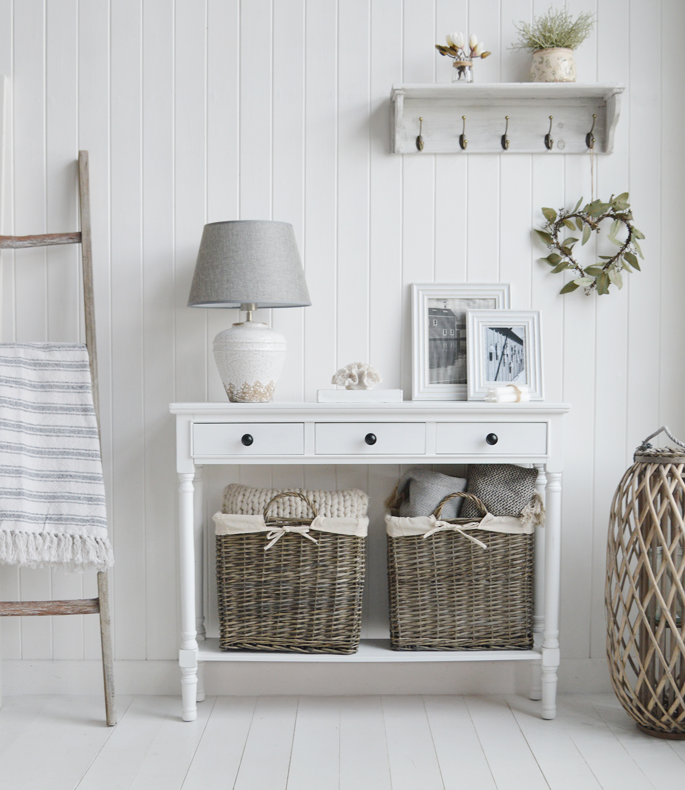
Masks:
[[[426,452],[425,423],[316,423],[317,455],[418,455]]]

